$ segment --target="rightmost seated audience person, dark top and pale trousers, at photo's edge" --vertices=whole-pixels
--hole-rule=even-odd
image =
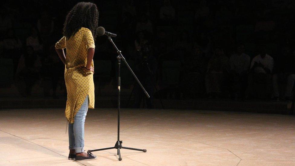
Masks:
[[[295,81],[295,57],[288,46],[282,48],[282,56],[276,59],[272,83],[274,88],[273,100],[279,100],[278,80],[287,80],[284,100],[289,101]]]

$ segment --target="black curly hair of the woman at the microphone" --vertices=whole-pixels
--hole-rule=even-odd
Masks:
[[[98,27],[98,9],[94,3],[79,2],[66,16],[63,24],[63,35],[69,39],[82,27],[88,28],[96,39],[96,28]]]

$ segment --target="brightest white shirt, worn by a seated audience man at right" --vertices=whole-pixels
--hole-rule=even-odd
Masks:
[[[251,62],[250,69],[252,69],[255,62],[258,64],[258,66],[256,66],[254,69],[255,73],[267,73],[264,68],[267,68],[270,70],[270,72],[272,72],[274,68],[274,59],[268,54],[265,54],[265,57],[261,57],[260,54],[254,57]]]

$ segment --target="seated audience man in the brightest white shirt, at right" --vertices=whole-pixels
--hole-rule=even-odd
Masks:
[[[274,59],[266,54],[266,47],[260,46],[259,53],[253,58],[250,67],[250,74],[248,77],[249,95],[254,95],[253,83],[264,82],[266,84],[266,92],[271,92],[271,73],[274,68]],[[265,94],[267,98],[270,94]]]

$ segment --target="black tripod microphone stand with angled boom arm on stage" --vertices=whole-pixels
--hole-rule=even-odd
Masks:
[[[121,153],[120,153],[120,149],[130,149],[130,150],[135,150],[135,151],[143,151],[146,152],[146,149],[137,149],[137,148],[128,148],[128,147],[124,147],[122,146],[122,141],[120,141],[120,86],[121,86],[121,79],[120,79],[120,64],[121,64],[121,60],[127,65],[128,69],[130,70],[130,72],[132,73],[132,75],[134,76],[135,80],[138,82],[138,84],[141,86],[142,90],[144,91],[144,93],[146,94],[146,96],[149,98],[150,96],[148,95],[147,91],[144,89],[144,87],[141,85],[141,83],[139,82],[138,78],[136,77],[136,75],[134,74],[134,72],[131,70],[130,66],[128,65],[128,63],[126,62],[125,58],[123,57],[123,55],[121,54],[121,51],[117,48],[117,46],[115,45],[115,43],[113,42],[111,36],[108,36],[109,41],[113,44],[114,48],[117,50],[118,56],[117,56],[117,60],[118,60],[118,140],[115,144],[114,147],[110,147],[110,148],[102,148],[102,149],[95,149],[95,150],[88,150],[87,152],[92,152],[92,151],[103,151],[103,150],[107,150],[107,149],[117,149],[117,155],[119,155],[119,161],[122,160],[121,158]]]

